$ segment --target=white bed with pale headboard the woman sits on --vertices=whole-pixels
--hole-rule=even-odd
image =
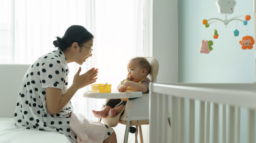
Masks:
[[[0,143],[71,143],[62,134],[23,129],[15,126],[13,117],[22,79],[30,65],[0,64]]]

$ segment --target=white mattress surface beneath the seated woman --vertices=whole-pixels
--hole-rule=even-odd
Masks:
[[[0,137],[0,143],[72,143],[65,135],[55,132],[19,128],[13,118],[0,118]]]

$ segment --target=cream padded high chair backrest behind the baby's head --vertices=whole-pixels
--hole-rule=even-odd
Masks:
[[[158,75],[158,69],[159,69],[159,64],[158,61],[153,58],[153,57],[145,57],[145,59],[149,62],[150,64],[150,73],[147,76],[151,82],[154,82],[156,79],[156,76]]]

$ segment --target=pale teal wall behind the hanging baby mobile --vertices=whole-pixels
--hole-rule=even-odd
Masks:
[[[178,0],[178,82],[255,82],[254,48],[242,50],[239,44],[245,34],[242,22],[237,21],[237,29],[240,32],[238,37],[233,36],[235,21],[231,21],[227,28],[223,23],[217,22],[218,39],[212,36],[215,24],[211,23],[207,37],[214,42],[213,50],[209,54],[199,52],[205,30],[201,21],[209,18],[224,19],[223,14],[218,14],[215,2],[216,0]],[[233,14],[227,15],[227,19],[237,15],[250,15],[248,35],[254,38],[253,1],[236,2]]]

